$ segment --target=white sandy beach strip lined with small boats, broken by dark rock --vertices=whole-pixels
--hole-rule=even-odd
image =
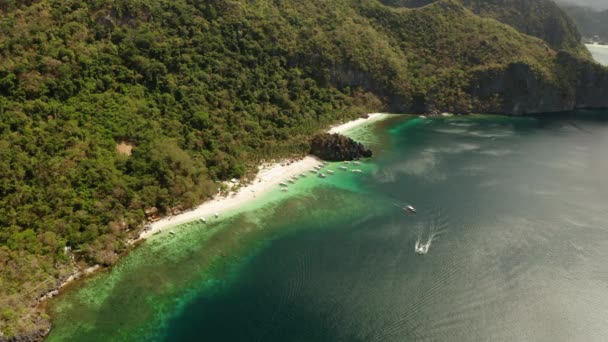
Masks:
[[[354,127],[364,123],[371,123],[386,117],[387,114],[373,113],[367,118],[359,118],[346,122],[344,124],[333,126],[329,129],[330,133],[343,133]],[[319,165],[321,161],[313,156],[306,156],[301,160],[289,162],[286,160],[273,163],[269,166],[262,167],[255,179],[248,185],[242,186],[236,193],[231,193],[228,196],[219,196],[202,203],[198,207],[181,213],[179,215],[164,217],[159,221],[153,222],[149,228],[143,231],[139,238],[135,241],[147,239],[155,233],[163,231],[166,228],[180,225],[183,223],[192,222],[205,218],[206,220],[215,220],[215,214],[219,214],[221,219],[222,213],[233,210],[250,201],[255,200],[258,196],[267,193],[270,190],[277,189],[281,182],[287,181],[292,176],[297,176],[302,173],[307,173],[314,166]]]

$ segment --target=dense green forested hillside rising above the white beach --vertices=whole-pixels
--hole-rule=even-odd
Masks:
[[[147,208],[191,207],[330,123],[608,106],[575,32],[562,47],[455,0],[425,5],[0,2],[0,340],[44,330],[40,295],[115,263]]]

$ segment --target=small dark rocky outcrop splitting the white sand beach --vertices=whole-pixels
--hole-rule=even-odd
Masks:
[[[363,144],[340,134],[319,134],[312,139],[310,153],[329,161],[354,160],[371,157],[372,151]]]

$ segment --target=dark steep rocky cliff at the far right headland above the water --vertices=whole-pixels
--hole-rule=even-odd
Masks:
[[[467,92],[472,111],[523,115],[608,108],[608,68],[560,52],[558,79],[525,63],[476,72]]]

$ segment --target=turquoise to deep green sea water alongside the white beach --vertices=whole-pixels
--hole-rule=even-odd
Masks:
[[[55,300],[49,340],[605,341],[607,118],[351,132],[364,173],[157,237]]]

